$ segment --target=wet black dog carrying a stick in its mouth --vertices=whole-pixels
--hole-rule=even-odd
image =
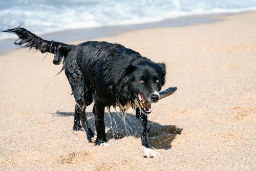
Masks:
[[[41,53],[54,54],[53,63],[63,68],[71,85],[75,100],[74,130],[86,131],[89,142],[94,133],[86,117],[86,106],[94,99],[93,113],[97,132],[96,145],[108,145],[105,135],[104,108],[119,106],[122,113],[132,107],[141,127],[141,141],[144,157],[159,156],[154,151],[147,131],[147,116],[151,103],[172,94],[176,88],[159,94],[165,82],[164,63],[155,63],[139,53],[119,44],[87,41],[77,46],[44,40],[24,28],[8,29],[16,33],[20,41],[14,44],[35,48]]]

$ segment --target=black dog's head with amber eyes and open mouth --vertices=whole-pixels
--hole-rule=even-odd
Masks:
[[[136,107],[144,114],[151,113],[151,103],[160,99],[159,91],[165,82],[165,64],[150,60],[133,62],[127,70],[131,74],[130,90]]]

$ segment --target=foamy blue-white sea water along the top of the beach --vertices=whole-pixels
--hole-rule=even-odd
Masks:
[[[0,0],[0,30],[23,27],[36,34],[78,28],[158,22],[196,14],[256,10],[256,0]],[[0,40],[16,37],[0,33]]]

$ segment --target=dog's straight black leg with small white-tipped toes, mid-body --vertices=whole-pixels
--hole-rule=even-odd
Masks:
[[[95,98],[95,103],[93,107],[93,113],[95,114],[95,126],[97,132],[97,139],[95,145],[107,146],[105,134],[105,124],[104,124],[104,108],[105,106]]]

